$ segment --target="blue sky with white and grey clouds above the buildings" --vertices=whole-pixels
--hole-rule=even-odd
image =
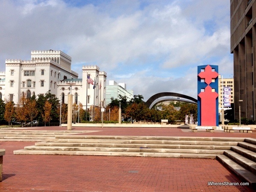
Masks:
[[[72,70],[97,65],[144,101],[197,98],[197,66],[233,78],[230,0],[1,0],[0,72],[6,59],[61,50]]]

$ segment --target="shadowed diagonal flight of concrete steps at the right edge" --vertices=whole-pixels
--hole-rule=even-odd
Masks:
[[[245,138],[216,159],[256,189],[256,139]]]

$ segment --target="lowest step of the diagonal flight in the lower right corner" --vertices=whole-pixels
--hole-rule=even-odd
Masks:
[[[249,182],[250,185],[253,187],[253,189],[256,189],[256,175],[253,174],[252,172],[248,171],[235,161],[231,160],[224,154],[218,154],[216,156],[216,159],[220,161],[222,164],[224,164],[225,167],[229,168],[232,170],[236,175],[241,178],[241,180],[245,182]]]

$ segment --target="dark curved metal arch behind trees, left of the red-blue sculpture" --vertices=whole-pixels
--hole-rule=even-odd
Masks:
[[[162,97],[165,97],[165,98],[162,98]],[[171,97],[171,98],[166,99],[166,97]],[[162,98],[162,99],[160,99],[160,98]],[[156,100],[157,100],[157,102],[156,102]],[[151,96],[145,102],[145,104],[147,105],[147,107],[149,109],[151,109],[160,102],[171,101],[171,100],[189,102],[189,103],[194,103],[194,104],[197,104],[197,102],[198,102],[197,99],[195,99],[191,96],[183,95],[180,93],[163,92],[163,93],[157,93],[157,94]]]

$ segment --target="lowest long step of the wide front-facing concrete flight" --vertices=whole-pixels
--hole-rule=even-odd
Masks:
[[[179,158],[210,158],[210,159],[216,158],[216,154],[114,152],[114,151],[36,151],[36,150],[24,150],[24,149],[14,151],[14,154],[179,157]]]

